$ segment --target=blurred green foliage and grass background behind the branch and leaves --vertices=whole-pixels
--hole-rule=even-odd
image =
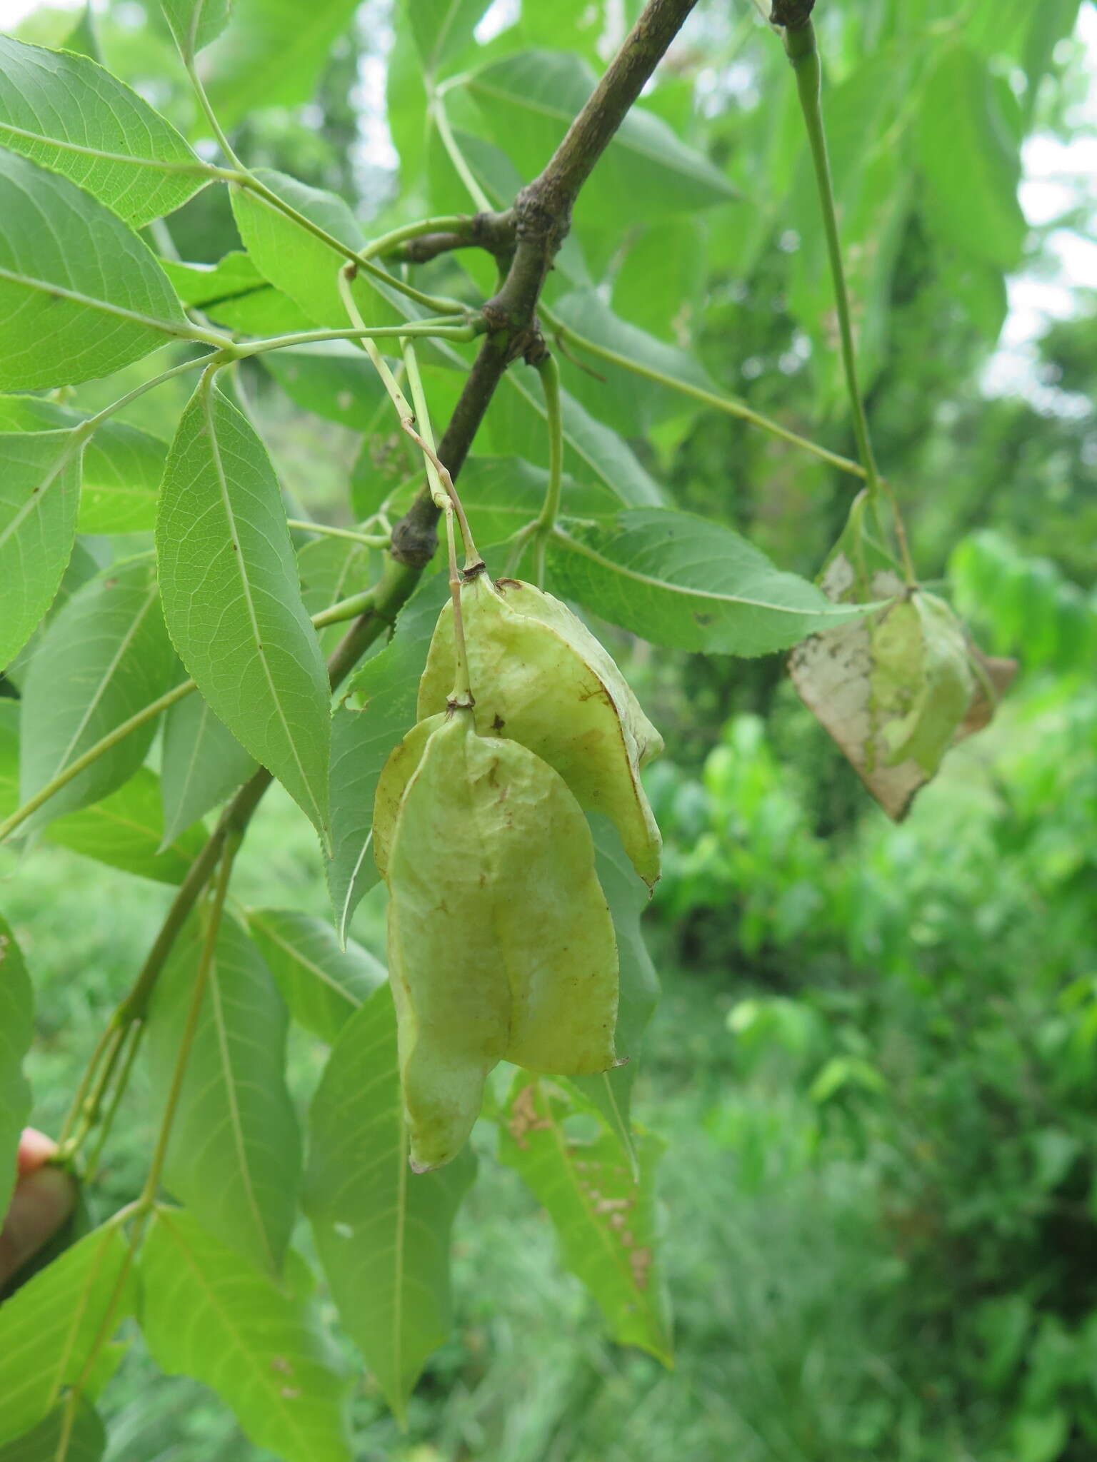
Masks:
[[[603,7],[550,9],[494,7],[502,28],[484,54],[508,34],[516,44],[516,25],[524,45],[594,58],[601,20],[588,12]],[[603,1338],[546,1219],[494,1165],[484,1123],[481,1181],[458,1219],[455,1335],[407,1436],[366,1379],[363,1462],[1097,1453],[1097,303],[1063,281],[1055,247],[1091,230],[1093,197],[1066,186],[1015,257],[1009,246],[1003,263],[992,243],[980,259],[955,246],[955,216],[942,228],[905,143],[888,146],[902,108],[923,130],[938,124],[933,67],[970,42],[990,57],[1014,165],[1025,133],[1069,156],[1093,145],[1094,53],[1071,38],[1078,4],[1063,0],[819,10],[878,456],[921,575],[946,580],[983,646],[1018,655],[1021,675],[990,730],[892,826],[778,658],[654,654],[606,629],[667,738],[649,772],[667,844],[648,918],[664,1000],[636,1110],[668,1142],[677,1367]],[[41,7],[16,34],[59,44],[72,19]],[[1082,20],[1093,35],[1088,6]],[[111,66],[189,126],[157,15],[117,0],[99,29]],[[342,193],[372,231],[393,216],[386,61],[393,136],[408,126],[401,108],[421,108],[391,42],[392,7],[370,0],[310,101],[256,107],[234,132],[249,161]],[[756,409],[850,450],[790,94],[752,7],[702,3],[645,105],[742,197],[698,219],[589,228],[582,243],[625,319],[696,354]],[[224,197],[199,194],[168,243],[199,262],[238,247]],[[429,278],[449,287],[452,269]],[[987,361],[1006,273],[1053,278],[1069,308],[1014,346],[1002,393]],[[598,395],[569,370],[569,389]],[[357,436],[269,376],[244,374],[243,389],[290,500],[350,522]],[[170,433],[164,395],[140,411]],[[818,569],[848,478],[677,399],[658,396],[639,427],[620,421],[679,503],[740,528],[783,567]],[[4,909],[38,985],[37,1121],[56,1130],[168,895],[56,848],[4,858]],[[288,798],[263,806],[238,867],[243,902],[326,912],[319,852]],[[377,890],[355,931],[383,955]],[[298,1034],[301,1095],[323,1056]],[[107,1154],[104,1208],[139,1186],[145,1105],[139,1077]],[[113,1395],[110,1462],[259,1458],[200,1387],[154,1379],[139,1344]]]

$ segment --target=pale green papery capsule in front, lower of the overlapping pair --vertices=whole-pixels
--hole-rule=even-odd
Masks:
[[[429,732],[385,863],[411,1162],[426,1171],[461,1149],[503,1057],[562,1076],[616,1063],[617,946],[575,797],[527,747],[478,735],[470,711]]]

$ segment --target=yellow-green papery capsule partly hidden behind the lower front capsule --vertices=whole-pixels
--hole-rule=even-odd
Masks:
[[[663,841],[639,770],[663,738],[582,620],[531,583],[480,573],[461,588],[468,674],[481,735],[535,751],[584,807],[604,813],[636,873],[654,885]],[[418,715],[445,709],[453,683],[453,610],[442,610],[420,681]]]

